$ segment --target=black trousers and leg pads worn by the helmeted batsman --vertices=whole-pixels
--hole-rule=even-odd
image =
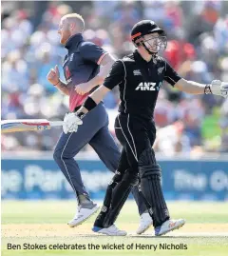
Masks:
[[[114,224],[132,186],[140,177],[140,193],[148,208],[153,225],[161,226],[169,213],[161,189],[161,167],[157,165],[152,149],[156,128],[152,121],[145,121],[130,114],[119,114],[115,131],[123,149],[119,167],[104,197],[104,207],[94,226]]]

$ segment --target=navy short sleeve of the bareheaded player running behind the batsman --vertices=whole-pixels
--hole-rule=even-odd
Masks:
[[[87,60],[100,65],[102,58],[107,52],[91,42],[83,42],[80,46],[81,56]]]

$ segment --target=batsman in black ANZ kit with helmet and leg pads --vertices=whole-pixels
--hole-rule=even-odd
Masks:
[[[106,235],[126,235],[114,223],[131,190],[138,182],[148,207],[155,235],[159,236],[183,226],[185,221],[171,220],[161,189],[161,167],[152,146],[156,137],[153,121],[154,108],[162,82],[192,94],[213,93],[228,96],[228,83],[214,80],[202,85],[181,78],[158,55],[166,48],[166,36],[153,21],[143,20],[131,31],[137,50],[112,66],[104,85],[88,96],[76,115],[72,114],[71,126],[77,127],[84,115],[103,99],[106,92],[119,86],[121,104],[116,118],[115,131],[123,146],[122,156],[104,198],[104,207],[97,217],[93,231]],[[125,171],[121,171],[125,169]]]

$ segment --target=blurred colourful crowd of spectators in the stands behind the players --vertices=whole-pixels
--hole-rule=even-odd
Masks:
[[[29,10],[6,11],[2,3],[2,119],[61,120],[68,99],[47,82],[47,72],[61,68],[66,49],[59,44],[60,18],[77,12],[63,2],[49,2],[38,25]],[[67,2],[69,3],[69,2]],[[129,33],[141,19],[167,32],[163,56],[180,76],[209,84],[228,81],[228,2],[226,1],[94,1],[81,2],[84,36],[117,58],[134,47]],[[64,79],[61,69],[61,78]],[[118,89],[104,99],[113,132]],[[228,101],[213,95],[193,96],[163,83],[157,108],[157,152],[204,154],[228,152]],[[52,150],[61,128],[2,135],[2,150]],[[113,132],[114,135],[114,132]],[[90,150],[86,147],[85,150]]]

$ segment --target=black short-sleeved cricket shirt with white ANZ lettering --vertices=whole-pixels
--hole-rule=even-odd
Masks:
[[[151,120],[163,81],[174,86],[179,80],[178,73],[162,57],[146,62],[135,50],[113,64],[104,87],[119,86],[119,112]]]

